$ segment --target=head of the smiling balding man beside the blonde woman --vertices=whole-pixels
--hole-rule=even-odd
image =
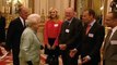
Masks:
[[[66,15],[66,18],[68,21],[70,21],[72,17],[74,17],[74,10],[73,10],[73,8],[67,8],[65,10],[65,15]]]

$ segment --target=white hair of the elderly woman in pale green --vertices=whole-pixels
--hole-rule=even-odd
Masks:
[[[33,24],[40,22],[40,15],[38,14],[31,14],[27,16],[27,20],[25,21],[27,26],[32,26]]]

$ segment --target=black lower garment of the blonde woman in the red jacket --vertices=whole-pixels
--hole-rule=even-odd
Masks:
[[[52,47],[56,38],[48,38],[48,42],[50,47]],[[57,46],[55,50],[50,50],[45,46],[45,54],[47,54],[46,63],[49,65],[59,65],[58,56],[59,56],[59,47]]]

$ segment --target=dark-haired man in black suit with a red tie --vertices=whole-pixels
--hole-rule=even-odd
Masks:
[[[82,21],[84,30],[81,43],[81,56],[83,65],[98,65],[101,61],[101,47],[105,36],[104,26],[95,20],[95,12],[87,9],[83,12]]]

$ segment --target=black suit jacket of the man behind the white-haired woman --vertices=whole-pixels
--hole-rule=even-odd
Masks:
[[[24,26],[20,20],[20,17],[13,20],[8,28],[7,32],[7,49],[8,50],[15,50],[20,51],[20,40],[21,40],[21,35],[24,30]]]

